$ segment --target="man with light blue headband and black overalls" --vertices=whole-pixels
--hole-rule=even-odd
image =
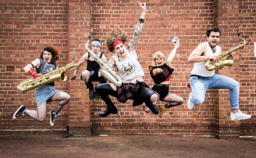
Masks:
[[[91,42],[91,50],[94,52],[98,57],[101,59],[102,62],[107,64],[107,58],[105,55],[100,52],[101,49],[101,43],[99,39],[93,39]],[[81,75],[81,80],[84,80],[87,88],[89,88],[89,98],[90,99],[100,99],[100,96],[93,90],[93,84],[92,81],[100,81],[100,83],[106,83],[107,81],[104,79],[103,76],[98,77],[98,72],[100,69],[100,65],[94,60],[94,58],[90,57],[90,54],[87,52],[83,55],[83,57],[79,60],[77,65],[79,66],[77,70],[74,71],[74,75],[71,78],[72,83],[74,82],[76,78],[76,74],[80,68],[80,66],[87,61],[87,70],[84,70]]]

